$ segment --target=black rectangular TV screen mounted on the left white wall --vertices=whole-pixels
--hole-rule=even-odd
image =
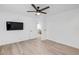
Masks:
[[[7,30],[23,30],[23,22],[6,22]]]

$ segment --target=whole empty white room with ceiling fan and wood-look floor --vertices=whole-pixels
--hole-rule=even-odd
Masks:
[[[79,55],[79,4],[0,4],[0,55]]]

